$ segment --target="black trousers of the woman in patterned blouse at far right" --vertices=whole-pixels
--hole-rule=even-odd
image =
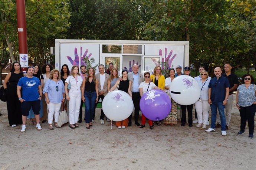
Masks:
[[[249,134],[253,135],[255,111],[256,111],[255,104],[252,104],[247,107],[240,106],[239,112],[241,117],[241,125],[240,125],[241,131],[244,131],[246,126],[246,121],[248,121]]]

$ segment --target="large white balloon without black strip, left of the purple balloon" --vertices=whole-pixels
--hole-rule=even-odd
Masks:
[[[108,119],[122,121],[132,113],[132,98],[124,91],[109,92],[102,102],[102,110]]]

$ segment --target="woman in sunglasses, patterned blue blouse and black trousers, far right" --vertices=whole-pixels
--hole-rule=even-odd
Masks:
[[[236,95],[236,106],[241,117],[240,131],[237,134],[242,135],[244,133],[246,121],[248,121],[249,138],[253,138],[254,116],[256,112],[256,90],[255,84],[252,84],[253,81],[252,75],[243,75],[242,83],[244,84],[238,86]]]

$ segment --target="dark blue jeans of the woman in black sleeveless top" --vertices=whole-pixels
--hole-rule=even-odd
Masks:
[[[92,122],[97,94],[96,94],[96,91],[94,92],[85,91],[84,96],[85,96],[85,122],[89,123],[89,122]]]

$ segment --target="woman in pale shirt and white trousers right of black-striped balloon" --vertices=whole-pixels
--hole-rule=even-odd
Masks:
[[[197,83],[201,89],[201,95],[198,101],[195,103],[198,124],[196,127],[205,129],[209,119],[210,105],[208,103],[208,85],[210,82],[209,74],[207,71],[200,73],[201,79],[197,79]]]

